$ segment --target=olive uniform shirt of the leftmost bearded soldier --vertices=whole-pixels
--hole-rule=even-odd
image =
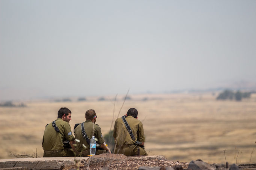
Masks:
[[[44,151],[60,150],[63,148],[63,141],[75,140],[72,135],[71,127],[68,122],[63,121],[61,118],[56,120],[56,126],[60,132],[56,132],[52,123],[48,124],[44,130],[42,146]]]

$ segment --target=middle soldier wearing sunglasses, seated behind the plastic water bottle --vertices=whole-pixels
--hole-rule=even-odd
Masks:
[[[97,115],[93,109],[87,110],[85,113],[86,121],[81,124],[76,124],[74,128],[75,139],[77,144],[77,155],[86,157],[90,155],[90,139],[95,136],[99,145],[96,148],[96,155],[104,154],[106,152],[111,154],[109,148],[105,145],[105,141],[102,138],[101,128],[98,124],[95,124]]]

